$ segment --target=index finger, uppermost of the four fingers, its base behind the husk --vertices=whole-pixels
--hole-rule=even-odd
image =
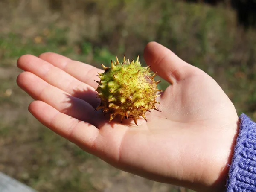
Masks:
[[[90,85],[94,89],[96,89],[99,85],[94,81],[99,81],[99,78],[96,76],[97,73],[104,72],[104,70],[93,67],[92,65],[84,64],[79,61],[73,61],[67,57],[52,52],[43,53],[39,55],[39,58],[51,63],[61,70],[64,70],[71,76]]]

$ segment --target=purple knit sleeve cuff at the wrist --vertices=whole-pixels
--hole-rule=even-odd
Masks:
[[[256,192],[256,123],[241,114],[226,192]]]

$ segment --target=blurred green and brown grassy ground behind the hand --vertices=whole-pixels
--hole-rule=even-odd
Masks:
[[[224,5],[177,0],[0,0],[0,171],[40,192],[189,192],[121,172],[38,123],[16,85],[23,54],[99,67],[157,41],[201,68],[256,119],[256,31]],[[159,77],[158,77],[159,78]],[[163,81],[160,88],[168,84]]]

